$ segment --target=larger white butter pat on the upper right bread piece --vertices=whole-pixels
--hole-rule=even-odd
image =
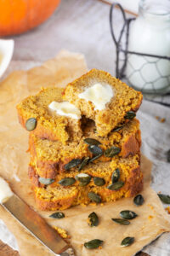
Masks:
[[[88,87],[82,93],[78,95],[80,99],[84,99],[87,102],[94,103],[94,110],[105,109],[105,104],[111,101],[114,96],[111,85],[109,84],[94,84]]]

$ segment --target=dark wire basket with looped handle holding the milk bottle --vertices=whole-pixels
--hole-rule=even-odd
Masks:
[[[115,8],[119,8],[122,13],[122,20],[123,25],[122,29],[118,35],[118,38],[116,39],[116,35],[114,32],[113,27],[113,11]],[[136,90],[140,90],[144,93],[144,98],[150,101],[160,102],[162,104],[170,106],[170,104],[166,104],[163,102],[163,96],[170,96],[170,73],[167,75],[164,75],[161,72],[160,69],[160,61],[166,60],[168,61],[168,64],[170,65],[170,57],[167,56],[161,56],[161,55],[150,55],[145,54],[141,52],[135,52],[135,51],[129,51],[128,50],[128,38],[129,38],[129,31],[130,31],[130,25],[135,20],[135,18],[128,18],[126,17],[124,9],[122,9],[122,5],[119,3],[113,3],[111,5],[111,11],[110,11],[110,26],[111,26],[111,36],[113,38],[113,41],[116,45],[116,78],[124,80],[127,84],[129,84],[131,87],[133,87]],[[122,40],[124,39],[124,41]],[[122,42],[123,41],[123,42]],[[122,46],[123,44],[123,46]],[[133,55],[139,56],[139,58],[142,58],[142,66],[140,67],[133,67],[131,63],[131,58]],[[151,58],[150,58],[151,57]],[[154,68],[156,73],[156,78],[154,78],[152,81],[147,81],[147,79],[144,77],[144,69],[147,69],[147,65],[150,65],[151,68]],[[131,72],[128,74],[127,66],[130,67]],[[139,76],[140,81],[143,81],[143,85],[141,88],[136,88],[134,84],[130,81],[132,76]],[[164,81],[164,83],[167,83],[167,86],[163,89],[156,89],[155,84],[161,83],[161,81]],[[148,90],[150,88],[150,90]]]

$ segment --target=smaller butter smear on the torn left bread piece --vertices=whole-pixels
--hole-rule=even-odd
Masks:
[[[59,115],[70,117],[71,119],[81,119],[80,110],[69,102],[51,102],[48,108]]]

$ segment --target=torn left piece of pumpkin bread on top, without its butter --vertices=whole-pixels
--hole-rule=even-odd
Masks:
[[[40,138],[66,143],[82,136],[80,119],[68,118],[51,111],[52,102],[63,102],[63,89],[42,89],[17,105],[20,124]],[[66,110],[65,110],[66,111]]]

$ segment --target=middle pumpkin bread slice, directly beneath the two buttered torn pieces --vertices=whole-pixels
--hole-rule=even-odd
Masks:
[[[93,143],[93,140],[94,143],[99,143],[97,149],[101,148],[104,153],[96,161],[111,161],[111,157],[105,156],[105,150],[113,146],[115,155],[118,154],[122,158],[139,153],[141,136],[138,119],[129,121],[127,125],[119,127],[118,131],[111,131],[107,137],[97,137],[94,129],[94,123],[89,121],[83,129],[83,137],[79,142],[70,142],[67,145],[47,139],[42,140],[30,134],[31,162],[37,167],[37,174],[40,177],[54,178],[59,173],[65,172],[65,165],[68,167],[69,162],[77,160],[78,163],[78,160],[81,161],[83,158],[93,158],[94,154],[89,148],[89,143]]]

